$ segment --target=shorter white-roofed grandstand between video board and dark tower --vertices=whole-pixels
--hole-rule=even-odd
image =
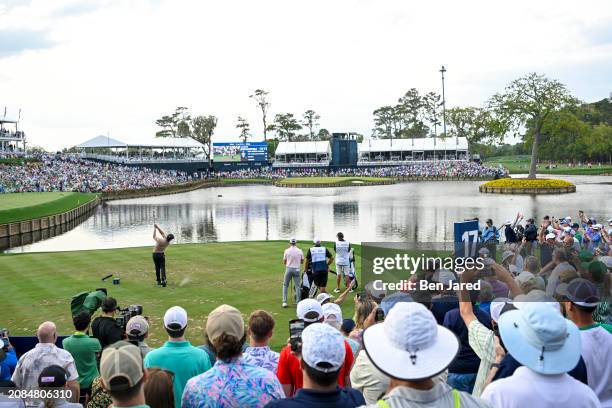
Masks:
[[[280,142],[272,167],[329,167],[331,144],[325,142]]]

